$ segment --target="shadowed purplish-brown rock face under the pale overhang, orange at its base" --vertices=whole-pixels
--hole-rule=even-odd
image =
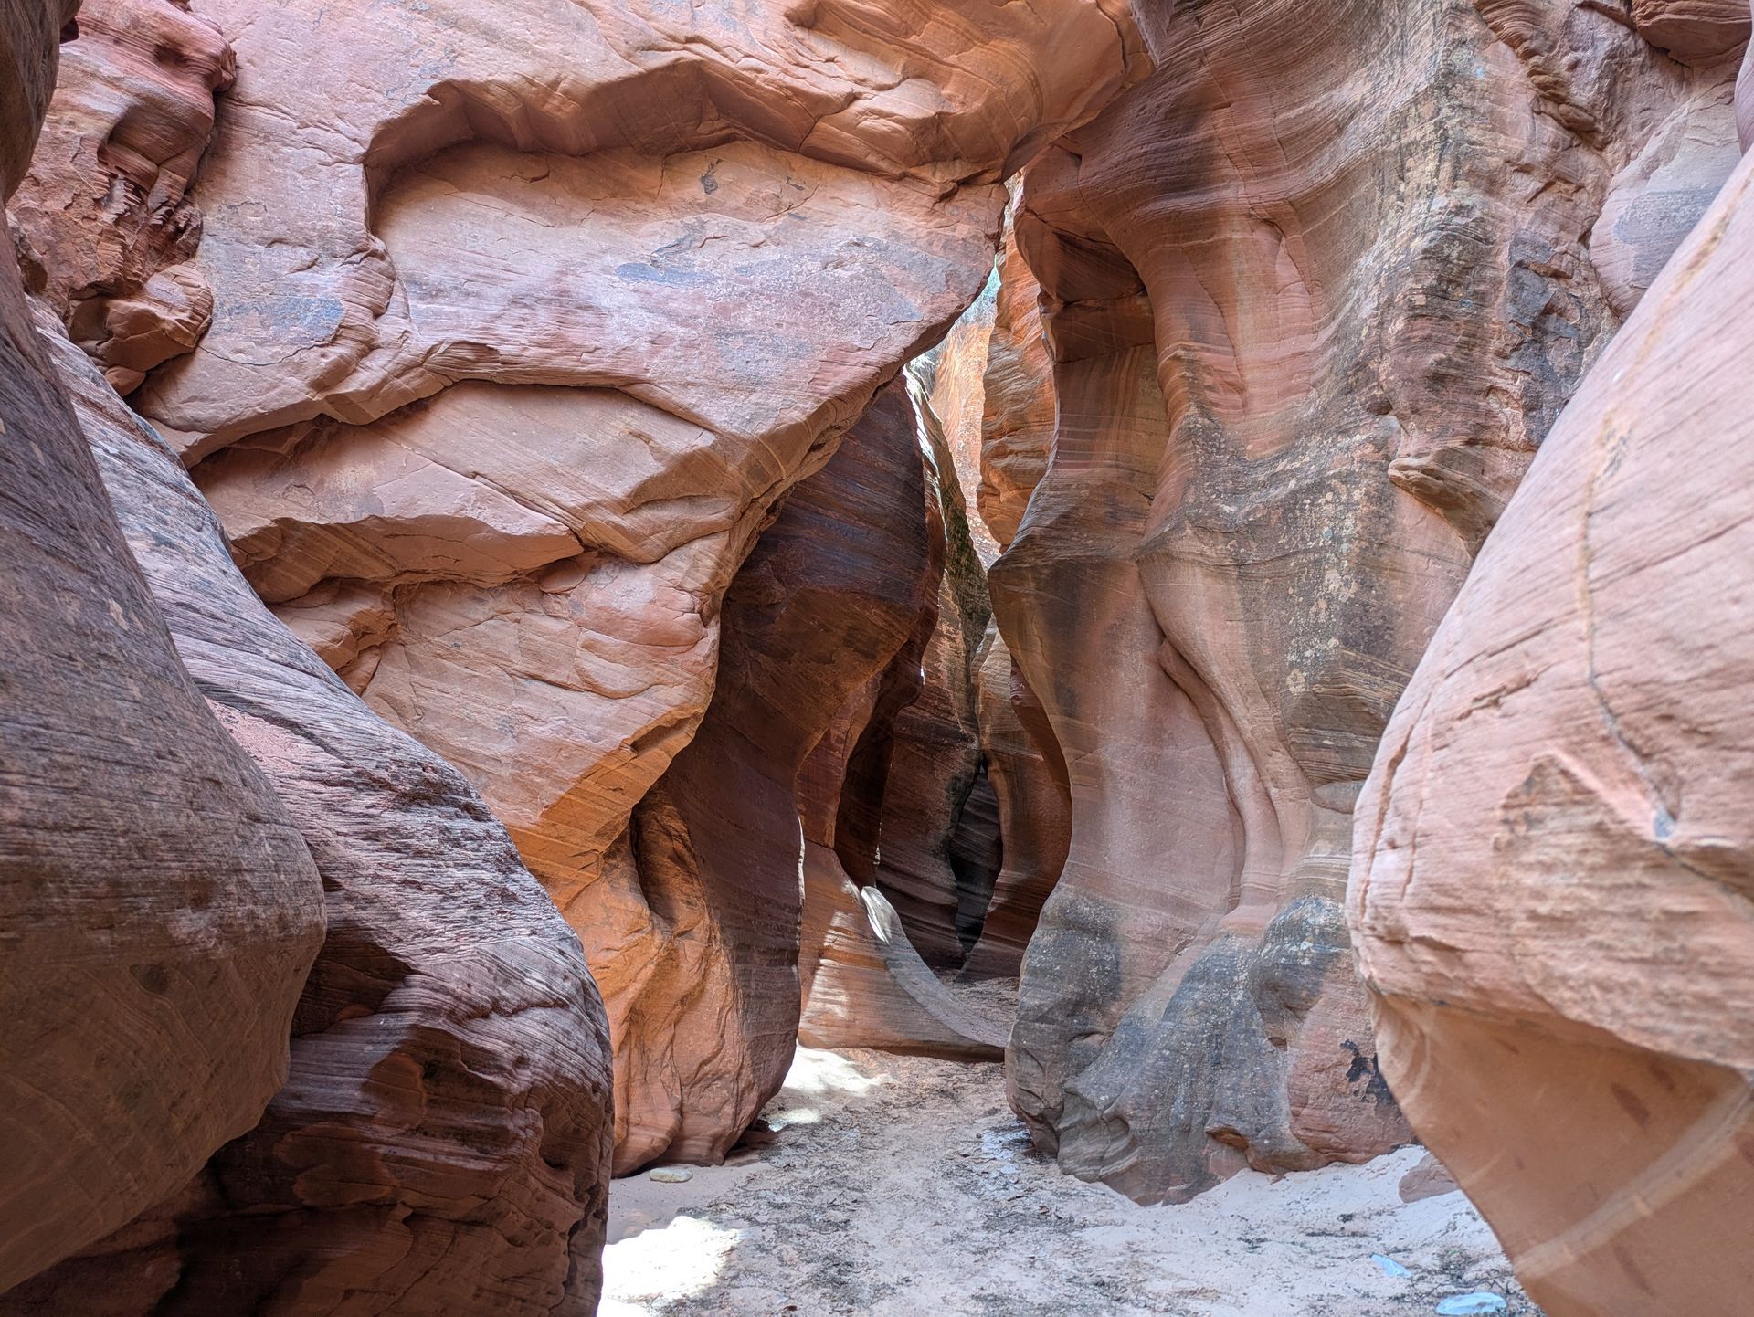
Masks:
[[[656,936],[667,954],[652,957],[647,938],[602,970],[616,1010],[647,1012],[616,1031],[651,1049],[617,1070],[626,1091],[617,1114],[628,1121],[621,1168],[660,1156],[723,1159],[791,1064],[803,865],[796,780],[919,614],[926,528],[916,428],[905,386],[893,382],[828,466],[791,493],[724,598],[712,705],[633,814],[631,866],[665,917]],[[670,956],[698,961],[668,975]],[[645,1056],[656,1057],[651,1073]]]

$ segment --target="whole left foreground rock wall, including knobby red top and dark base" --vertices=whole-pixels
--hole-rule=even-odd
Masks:
[[[53,549],[9,559],[9,726],[32,703],[7,751],[53,794],[5,838],[32,901],[7,1121],[35,1150],[0,1285],[39,1273],[0,1312],[591,1312],[610,1080],[577,936],[468,784],[268,614],[116,393],[142,361],[118,344],[188,309],[153,289],[200,235],[228,47],[168,0],[82,19],[9,214],[33,296],[4,289],[44,381],[9,400],[9,461],[51,466],[7,491],[18,544]]]

